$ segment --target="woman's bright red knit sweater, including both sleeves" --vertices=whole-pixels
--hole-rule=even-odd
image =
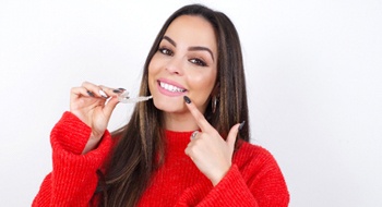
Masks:
[[[192,132],[166,132],[167,153],[163,167],[143,194],[139,206],[288,206],[284,176],[272,155],[243,143],[232,166],[214,187],[184,154]],[[96,170],[110,151],[106,132],[99,146],[81,155],[91,129],[65,112],[51,132],[53,169],[44,180],[33,206],[88,206],[97,185]]]

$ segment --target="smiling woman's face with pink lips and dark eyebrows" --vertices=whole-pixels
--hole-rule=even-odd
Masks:
[[[188,113],[187,95],[204,113],[217,74],[217,45],[212,25],[201,16],[181,15],[167,28],[148,65],[148,87],[156,108]]]

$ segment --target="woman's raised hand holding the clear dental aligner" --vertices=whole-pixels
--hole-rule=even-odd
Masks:
[[[116,108],[118,94],[123,89],[84,82],[81,87],[73,87],[70,93],[70,111],[92,129],[92,134],[82,154],[94,149],[99,143]]]

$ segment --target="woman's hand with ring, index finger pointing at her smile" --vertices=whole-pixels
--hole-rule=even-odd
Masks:
[[[193,102],[186,104],[196,124],[201,129],[184,149],[199,170],[205,174],[215,186],[231,167],[235,142],[239,123],[234,125],[225,141],[219,133],[205,120]]]

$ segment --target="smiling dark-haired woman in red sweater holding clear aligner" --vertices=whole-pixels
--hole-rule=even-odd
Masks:
[[[72,88],[34,206],[288,205],[276,161],[248,143],[241,48],[225,14],[193,4],[167,20],[142,77],[140,95],[153,99],[110,135],[122,90]]]

